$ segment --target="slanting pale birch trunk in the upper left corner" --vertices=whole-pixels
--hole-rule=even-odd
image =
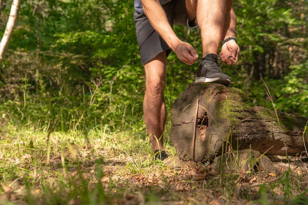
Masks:
[[[1,1],[2,2],[2,1]],[[3,53],[8,46],[11,37],[13,35],[13,30],[16,25],[17,16],[18,16],[18,10],[20,6],[21,0],[13,0],[11,10],[10,10],[10,16],[8,18],[8,21],[6,23],[6,28],[3,34],[3,37],[0,42],[0,61],[2,60]]]

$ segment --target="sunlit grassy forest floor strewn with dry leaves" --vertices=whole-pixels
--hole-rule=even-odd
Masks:
[[[48,156],[47,136],[2,127],[0,205],[308,204],[307,157],[231,168],[182,161],[166,141],[169,157],[160,162],[148,138],[106,130],[52,133]]]

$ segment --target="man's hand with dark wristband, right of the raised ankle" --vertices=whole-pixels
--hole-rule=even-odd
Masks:
[[[240,53],[240,47],[234,40],[229,40],[221,47],[219,54],[222,62],[231,65],[236,64]]]

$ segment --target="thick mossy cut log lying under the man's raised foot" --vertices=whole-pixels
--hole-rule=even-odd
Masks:
[[[246,101],[237,88],[191,84],[171,109],[171,140],[177,152],[185,159],[204,162],[230,149],[290,156],[305,151],[308,117],[276,114],[250,107]]]

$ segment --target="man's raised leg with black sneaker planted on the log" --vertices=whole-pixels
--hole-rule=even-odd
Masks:
[[[196,16],[201,30],[203,58],[198,66],[195,82],[229,85],[230,77],[221,72],[217,63],[218,47],[223,32],[225,0],[185,0],[185,3],[189,21]]]

